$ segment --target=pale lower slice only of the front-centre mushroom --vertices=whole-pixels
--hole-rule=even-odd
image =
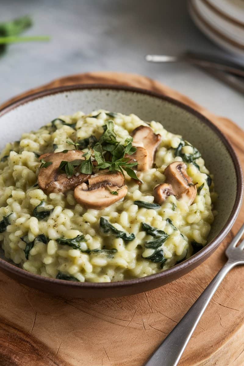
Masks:
[[[127,186],[118,187],[109,183],[108,181],[104,181],[91,186],[87,186],[86,183],[79,184],[75,188],[74,198],[86,208],[101,210],[108,207],[124,198],[127,194]]]

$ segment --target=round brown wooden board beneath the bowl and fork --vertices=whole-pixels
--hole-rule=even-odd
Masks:
[[[25,95],[75,83],[131,85],[183,101],[207,116],[229,137],[244,167],[244,132],[239,127],[144,76],[115,72],[74,75]],[[188,275],[127,298],[61,299],[0,274],[0,365],[142,366],[224,264],[224,249],[243,221],[242,208],[225,242]],[[179,365],[244,365],[243,332],[243,268],[238,267],[214,295]]]

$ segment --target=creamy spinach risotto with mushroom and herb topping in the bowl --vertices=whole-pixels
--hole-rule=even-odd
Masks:
[[[205,244],[217,195],[200,152],[155,121],[60,116],[0,155],[0,241],[29,272],[110,282],[160,272]]]

